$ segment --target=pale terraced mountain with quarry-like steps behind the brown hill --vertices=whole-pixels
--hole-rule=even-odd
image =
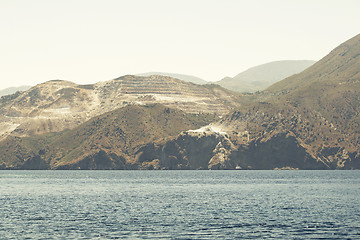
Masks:
[[[224,115],[242,96],[217,85],[196,85],[165,76],[123,76],[91,85],[52,80],[0,99],[0,140],[72,129],[127,105],[161,103],[187,113]]]

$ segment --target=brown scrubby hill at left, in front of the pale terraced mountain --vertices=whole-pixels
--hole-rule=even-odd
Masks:
[[[129,105],[72,130],[32,137],[8,136],[0,142],[0,168],[138,169],[143,166],[136,152],[142,145],[216,119],[214,114],[190,114],[161,104]]]

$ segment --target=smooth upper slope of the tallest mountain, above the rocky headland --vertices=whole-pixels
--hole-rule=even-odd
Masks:
[[[338,131],[357,132],[360,112],[360,35],[335,48],[302,74],[267,89],[274,102],[317,112]]]

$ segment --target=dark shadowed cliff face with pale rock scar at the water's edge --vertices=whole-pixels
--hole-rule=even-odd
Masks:
[[[316,159],[290,133],[237,144],[235,136],[183,133],[137,153],[142,169],[334,169]]]

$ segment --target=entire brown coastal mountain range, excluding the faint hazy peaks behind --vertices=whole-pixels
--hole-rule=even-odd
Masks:
[[[360,35],[254,95],[164,76],[47,82],[1,99],[0,165],[360,169]]]

